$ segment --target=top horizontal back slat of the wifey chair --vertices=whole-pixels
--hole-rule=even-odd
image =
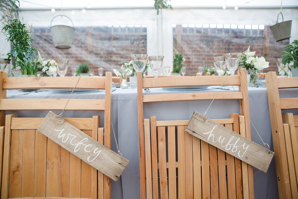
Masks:
[[[76,89],[103,90],[105,81],[104,77],[6,77],[3,78],[2,89],[70,89],[75,87]]]

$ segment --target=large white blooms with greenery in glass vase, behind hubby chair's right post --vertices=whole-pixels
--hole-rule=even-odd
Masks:
[[[246,69],[247,74],[250,75],[249,85],[254,87],[257,86],[255,81],[259,79],[258,72],[264,68],[268,68],[269,62],[266,62],[264,57],[254,57],[255,51],[251,52],[249,49],[250,47],[251,46],[249,46],[248,49],[242,53],[239,65]]]

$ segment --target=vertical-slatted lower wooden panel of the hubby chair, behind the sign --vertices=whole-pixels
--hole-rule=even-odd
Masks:
[[[215,121],[246,136],[244,116]],[[247,164],[185,132],[188,122],[144,120],[147,198],[249,198]]]

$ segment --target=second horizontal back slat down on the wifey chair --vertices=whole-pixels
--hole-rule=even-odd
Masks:
[[[1,110],[104,110],[104,99],[0,99]],[[67,103],[67,104],[66,104]],[[66,104],[66,106],[65,106]]]

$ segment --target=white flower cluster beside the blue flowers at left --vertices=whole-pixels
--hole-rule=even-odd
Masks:
[[[55,60],[44,60],[38,52],[38,65],[36,74],[41,77],[57,76],[57,63]]]

